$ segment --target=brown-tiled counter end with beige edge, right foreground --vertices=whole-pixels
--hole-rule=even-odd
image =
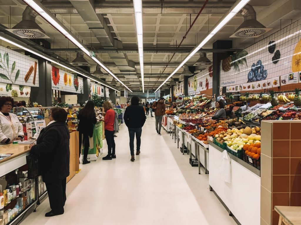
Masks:
[[[275,205],[301,206],[301,121],[261,123],[261,225],[277,225]]]

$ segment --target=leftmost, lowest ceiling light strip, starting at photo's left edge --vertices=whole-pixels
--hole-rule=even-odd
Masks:
[[[95,80],[95,79],[93,79],[93,78],[91,78],[91,77],[85,75],[84,73],[81,73],[81,72],[79,72],[79,71],[77,71],[77,70],[74,70],[74,69],[72,69],[72,68],[70,68],[70,67],[67,67],[67,66],[65,66],[65,65],[63,65],[63,64],[61,64],[61,63],[59,63],[58,61],[55,61],[55,60],[53,60],[53,59],[51,59],[51,58],[48,58],[48,57],[46,57],[45,55],[41,55],[40,53],[35,52],[35,51],[31,50],[31,49],[28,49],[28,48],[26,48],[25,46],[22,46],[22,45],[20,45],[20,44],[17,44],[16,42],[9,40],[9,39],[3,37],[2,35],[0,35],[0,39],[3,40],[3,41],[6,41],[7,43],[10,43],[10,44],[12,44],[12,45],[18,47],[18,48],[21,48],[21,49],[23,49],[23,50],[25,50],[25,51],[27,51],[27,52],[31,52],[31,53],[33,53],[33,54],[36,55],[36,56],[39,56],[39,57],[41,57],[41,58],[44,58],[44,59],[46,59],[47,61],[53,62],[54,64],[57,64],[57,65],[59,65],[59,66],[61,66],[61,67],[64,67],[64,68],[66,68],[67,70],[71,70],[71,71],[73,71],[74,73],[78,73],[78,74],[80,74],[80,75],[82,75],[82,76],[85,76],[85,77],[87,77],[88,79],[91,79],[91,80],[93,80],[93,81],[95,81],[95,82],[98,82],[98,83],[104,85],[104,86],[107,86],[108,88],[112,88],[112,87],[110,87],[110,86],[108,86],[108,85],[106,85],[106,84],[104,84],[104,83],[102,83],[102,82],[100,82],[100,81],[98,81],[98,80]],[[117,89],[115,89],[115,88],[112,88],[112,89],[115,90],[115,91],[120,92],[119,90],[117,90]]]

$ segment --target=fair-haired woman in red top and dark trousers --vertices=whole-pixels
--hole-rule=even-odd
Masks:
[[[104,107],[105,116],[102,121],[104,121],[104,135],[106,137],[108,145],[108,155],[102,158],[103,160],[112,160],[116,158],[115,155],[115,141],[114,141],[114,121],[115,121],[115,111],[112,109],[110,102],[105,101],[102,104]]]

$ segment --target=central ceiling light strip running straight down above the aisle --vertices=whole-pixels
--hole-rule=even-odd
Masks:
[[[135,21],[136,21],[142,91],[144,93],[142,0],[133,0],[133,3],[134,3],[134,12],[135,12]]]

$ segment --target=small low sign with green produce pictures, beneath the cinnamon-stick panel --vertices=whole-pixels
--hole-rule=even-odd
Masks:
[[[28,86],[0,83],[0,96],[29,98],[29,95],[30,87]]]

